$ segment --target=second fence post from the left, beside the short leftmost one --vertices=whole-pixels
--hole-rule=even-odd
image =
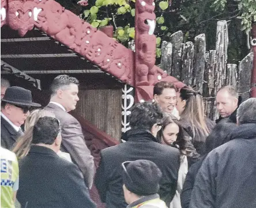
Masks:
[[[182,31],[175,32],[170,37],[170,42],[172,44],[172,76],[180,79],[180,71],[182,66],[182,43],[183,43],[183,33]]]

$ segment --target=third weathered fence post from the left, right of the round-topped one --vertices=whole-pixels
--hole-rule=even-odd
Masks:
[[[194,44],[187,42],[182,49],[182,70],[181,80],[187,84],[192,85],[193,79],[193,65],[194,65]]]

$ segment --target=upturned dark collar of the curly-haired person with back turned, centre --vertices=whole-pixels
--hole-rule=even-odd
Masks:
[[[130,129],[122,136],[122,140],[125,141],[157,141],[156,137],[154,137],[151,133],[146,130],[140,129]]]

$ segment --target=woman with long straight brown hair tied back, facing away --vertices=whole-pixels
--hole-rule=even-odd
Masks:
[[[191,142],[197,152],[202,155],[205,139],[214,127],[214,122],[204,115],[202,96],[190,86],[182,87],[176,108],[179,111],[180,124],[191,137]]]

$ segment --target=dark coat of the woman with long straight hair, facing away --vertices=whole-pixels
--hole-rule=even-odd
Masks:
[[[191,142],[194,145],[194,148],[200,155],[203,155],[205,152],[205,140],[207,136],[204,135],[201,129],[195,129],[195,132],[193,133],[191,123],[189,120],[187,120],[187,118],[181,118],[179,122],[180,125],[182,125],[182,127],[186,130],[187,134],[189,134],[189,136],[192,138]],[[215,126],[214,122],[205,117],[205,123],[209,132],[211,132]]]

